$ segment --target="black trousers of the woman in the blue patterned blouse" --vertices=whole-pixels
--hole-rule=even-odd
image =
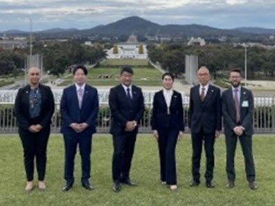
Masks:
[[[50,135],[50,127],[45,127],[39,133],[19,129],[19,136],[24,149],[24,165],[26,178],[33,181],[34,161],[36,161],[38,180],[43,181],[46,172],[46,147]]]

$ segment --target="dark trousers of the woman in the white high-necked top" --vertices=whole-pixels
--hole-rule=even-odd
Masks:
[[[178,129],[161,128],[159,133],[159,160],[161,165],[161,181],[167,185],[177,184],[175,148]]]

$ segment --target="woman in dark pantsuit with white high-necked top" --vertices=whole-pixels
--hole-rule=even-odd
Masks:
[[[184,111],[181,94],[172,90],[174,76],[164,73],[163,90],[154,94],[152,131],[159,144],[161,182],[172,191],[177,189],[175,148],[183,138]]]

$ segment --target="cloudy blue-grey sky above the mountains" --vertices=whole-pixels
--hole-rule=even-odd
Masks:
[[[275,0],[0,0],[0,31],[92,28],[130,16],[157,24],[275,28]]]

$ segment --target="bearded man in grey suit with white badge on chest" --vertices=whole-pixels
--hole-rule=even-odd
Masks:
[[[242,153],[245,156],[245,171],[251,189],[257,189],[255,167],[252,153],[252,135],[254,98],[247,88],[240,86],[240,70],[230,72],[231,88],[222,93],[222,114],[224,117],[224,134],[227,145],[227,187],[235,186],[234,157],[237,140],[240,140]]]

